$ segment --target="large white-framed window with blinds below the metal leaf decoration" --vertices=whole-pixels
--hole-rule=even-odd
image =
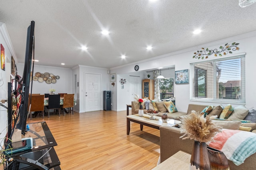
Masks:
[[[245,104],[245,55],[190,63],[190,100]]]

